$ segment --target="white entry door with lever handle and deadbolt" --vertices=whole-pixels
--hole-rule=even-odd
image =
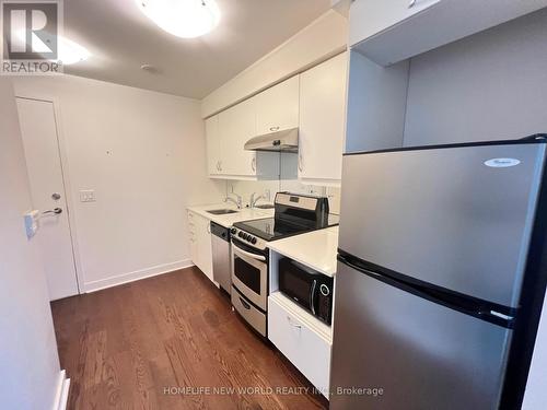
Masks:
[[[43,214],[36,235],[51,301],[78,294],[74,254],[62,176],[55,108],[51,102],[18,97],[26,167],[34,209]]]

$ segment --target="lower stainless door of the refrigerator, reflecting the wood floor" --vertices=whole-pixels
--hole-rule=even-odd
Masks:
[[[512,330],[341,262],[336,280],[330,409],[498,408]]]

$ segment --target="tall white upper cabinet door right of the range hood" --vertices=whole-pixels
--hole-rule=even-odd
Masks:
[[[299,178],[341,179],[348,54],[300,78]]]

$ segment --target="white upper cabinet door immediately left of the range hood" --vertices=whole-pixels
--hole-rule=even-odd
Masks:
[[[255,136],[255,101],[244,101],[219,114],[222,175],[256,175],[255,153],[243,148]]]

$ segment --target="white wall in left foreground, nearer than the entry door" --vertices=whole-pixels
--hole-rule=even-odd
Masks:
[[[59,359],[39,251],[23,224],[31,195],[13,89],[5,78],[0,78],[0,408],[51,409]]]

